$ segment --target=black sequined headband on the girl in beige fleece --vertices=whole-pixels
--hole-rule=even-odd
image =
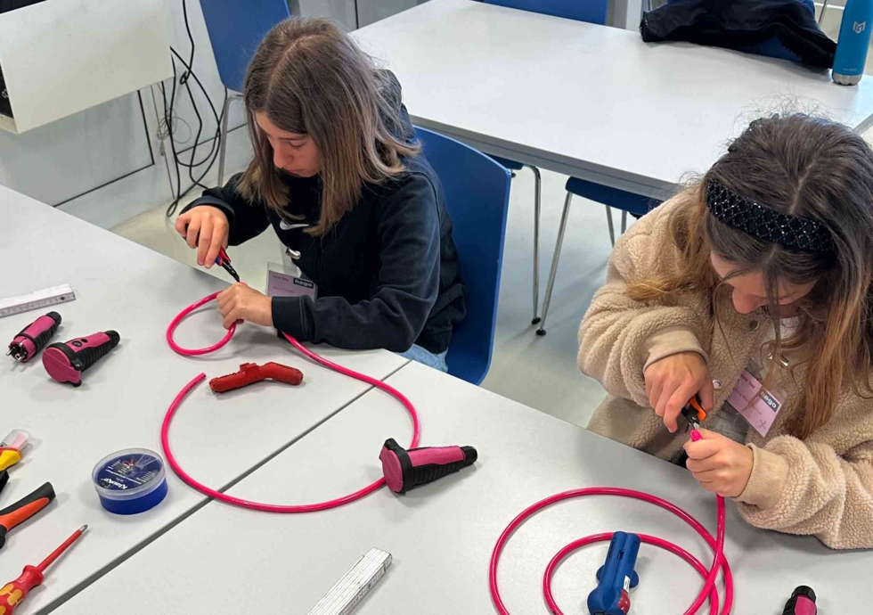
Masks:
[[[706,206],[715,219],[764,242],[780,243],[803,252],[833,252],[828,229],[809,217],[789,216],[725,188],[706,182]]]

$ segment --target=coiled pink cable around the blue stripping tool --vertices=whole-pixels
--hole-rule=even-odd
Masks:
[[[724,558],[723,553],[724,498],[722,496],[717,496],[716,499],[718,508],[718,538],[716,539],[706,530],[706,528],[703,527],[703,525],[700,524],[698,520],[692,517],[688,512],[683,511],[679,506],[671,504],[670,502],[667,502],[665,499],[662,499],[658,496],[652,496],[648,493],[642,493],[641,491],[633,491],[632,489],[616,487],[593,487],[564,491],[554,496],[546,497],[536,504],[528,506],[524,511],[520,512],[518,516],[510,522],[510,525],[503,530],[501,537],[498,538],[497,544],[494,545],[494,551],[491,553],[491,565],[488,571],[488,584],[491,588],[491,599],[492,602],[494,602],[494,608],[497,610],[498,613],[500,613],[501,615],[510,615],[510,611],[506,608],[506,604],[503,603],[503,599],[500,594],[500,587],[497,585],[497,564],[500,562],[500,556],[503,552],[503,547],[506,546],[507,542],[509,542],[512,534],[515,533],[516,529],[518,529],[525,521],[527,521],[528,518],[534,515],[534,513],[543,510],[543,508],[551,506],[551,504],[556,504],[557,502],[561,502],[563,500],[583,496],[632,497],[634,499],[642,500],[643,502],[649,502],[649,504],[656,504],[666,511],[673,512],[673,514],[679,517],[682,521],[688,523],[698,532],[701,537],[706,540],[710,548],[713,549],[715,555],[713,558],[713,566],[709,570],[708,575],[706,575],[706,583],[704,584],[703,589],[701,590],[700,594],[698,594],[697,599],[690,606],[689,610],[685,611],[684,615],[693,615],[694,613],[696,613],[700,606],[706,602],[707,597],[711,601],[711,612],[713,614],[718,612],[718,594],[715,587],[715,580],[716,578],[718,578],[718,571],[720,569],[723,570],[724,574],[724,607],[722,608],[722,615],[727,615],[728,613],[730,613],[730,608],[733,604],[733,577],[730,574],[730,566],[728,565],[727,560]],[[580,546],[588,545],[601,540],[609,540],[611,539],[611,537],[612,534],[598,534],[592,537],[582,538],[575,541],[574,543],[571,543],[570,545],[567,545],[566,547],[561,549],[561,551],[557,555],[555,555],[554,558],[552,558],[543,578],[543,594],[545,595],[546,604],[548,605],[551,612],[554,613],[554,615],[563,615],[562,611],[560,611],[558,607],[558,604],[555,603],[554,598],[551,595],[551,576],[554,573],[554,570],[558,567],[559,562],[563,560],[567,556],[567,554],[571,553]],[[658,542],[653,542],[652,544],[661,546],[671,553],[681,555],[681,557],[685,557],[686,552],[684,549],[681,548],[681,546],[674,545],[673,543],[662,540],[660,538],[655,538],[655,540],[657,540]],[[696,561],[692,561],[688,557],[685,557],[685,559],[686,561],[690,562],[692,566],[695,566],[695,568],[697,568],[697,566],[695,565]],[[700,569],[698,569],[698,571],[699,570]],[[706,569],[703,569],[703,571],[706,572]]]

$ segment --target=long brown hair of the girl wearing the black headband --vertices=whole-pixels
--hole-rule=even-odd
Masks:
[[[706,207],[710,179],[772,209],[815,219],[828,228],[836,253],[790,250],[722,224]],[[724,287],[710,264],[714,253],[738,267],[731,276],[764,275],[776,330],[773,356],[782,348],[804,348],[805,412],[793,426],[798,438],[828,422],[846,386],[873,396],[873,151],[864,139],[803,114],[757,119],[678,198],[685,202],[670,222],[674,245],[663,249],[678,248],[681,267],[632,284],[632,299],[700,293],[710,299],[717,322],[717,295]],[[800,326],[787,340],[779,335],[779,280],[815,283],[797,302]],[[771,373],[777,363],[771,363]]]

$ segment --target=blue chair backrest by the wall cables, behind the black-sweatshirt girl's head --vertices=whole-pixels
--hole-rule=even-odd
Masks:
[[[290,17],[286,0],[200,0],[218,76],[229,90],[242,91],[249,61],[266,33]]]

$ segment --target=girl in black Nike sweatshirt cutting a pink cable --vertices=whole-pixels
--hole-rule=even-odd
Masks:
[[[212,266],[268,226],[317,298],[218,295],[224,326],[274,326],[301,341],[387,348],[445,371],[466,314],[443,188],[414,141],[400,84],[330,21],[267,34],[243,88],[254,159],[185,208],[175,228]]]

